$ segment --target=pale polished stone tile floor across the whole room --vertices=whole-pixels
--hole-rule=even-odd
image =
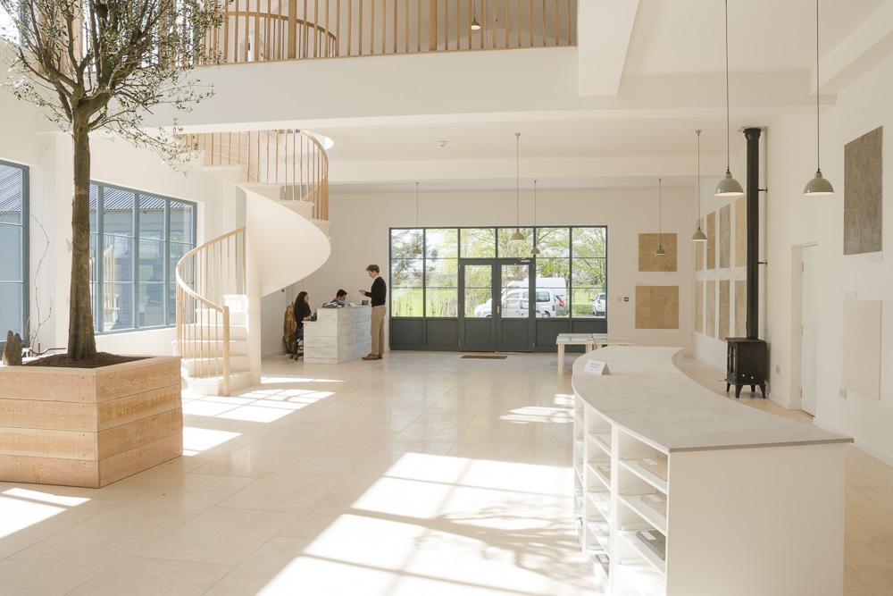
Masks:
[[[0,483],[0,593],[597,593],[555,356],[264,371],[238,397],[184,394],[173,462],[98,491]],[[891,594],[893,468],[856,449],[847,466],[847,595]]]

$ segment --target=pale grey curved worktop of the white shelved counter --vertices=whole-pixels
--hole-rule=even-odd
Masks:
[[[722,399],[675,365],[681,348],[609,347],[579,357],[573,389],[591,407],[665,453],[852,442]],[[609,374],[584,372],[589,360]]]

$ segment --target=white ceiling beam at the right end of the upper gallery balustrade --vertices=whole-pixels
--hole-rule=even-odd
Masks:
[[[616,96],[638,0],[580,0],[577,5],[580,96]]]

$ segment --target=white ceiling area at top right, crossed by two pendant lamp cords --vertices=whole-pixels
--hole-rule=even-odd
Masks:
[[[824,0],[821,49],[837,46],[885,0]],[[722,0],[640,0],[625,76],[724,70]],[[730,71],[797,71],[815,63],[814,0],[730,0]]]

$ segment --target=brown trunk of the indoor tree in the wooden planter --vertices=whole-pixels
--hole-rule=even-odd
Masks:
[[[74,139],[74,201],[71,209],[68,356],[85,360],[96,354],[90,306],[90,137],[86,122],[81,124],[76,119],[71,136]],[[96,250],[100,247],[98,245]]]

